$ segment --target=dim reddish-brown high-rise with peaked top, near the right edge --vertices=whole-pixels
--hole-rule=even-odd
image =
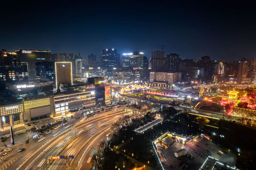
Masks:
[[[238,83],[248,83],[250,81],[250,78],[248,78],[248,66],[249,62],[246,59],[239,60],[237,72]]]

